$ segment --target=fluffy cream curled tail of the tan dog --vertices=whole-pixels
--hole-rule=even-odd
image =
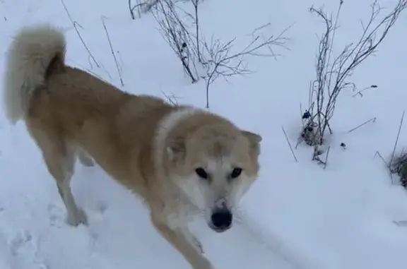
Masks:
[[[52,71],[64,66],[64,33],[51,25],[28,26],[18,31],[7,52],[3,102],[11,124],[25,117],[30,97]]]

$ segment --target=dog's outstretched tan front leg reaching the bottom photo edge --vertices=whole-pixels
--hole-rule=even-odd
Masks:
[[[165,222],[156,220],[154,217],[151,218],[151,221],[158,232],[184,256],[192,268],[215,269],[211,262],[202,255],[199,248],[194,246],[188,239],[190,232],[189,234],[185,234],[185,229],[171,229]],[[192,234],[190,235],[194,238]]]

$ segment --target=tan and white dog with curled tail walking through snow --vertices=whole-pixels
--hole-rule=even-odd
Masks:
[[[6,56],[4,108],[23,120],[66,206],[69,225],[88,225],[71,193],[79,160],[98,164],[148,205],[151,223],[195,269],[214,268],[188,229],[204,215],[215,232],[259,173],[261,136],[223,116],[150,95],[133,95],[65,64],[64,32],[18,30]]]

